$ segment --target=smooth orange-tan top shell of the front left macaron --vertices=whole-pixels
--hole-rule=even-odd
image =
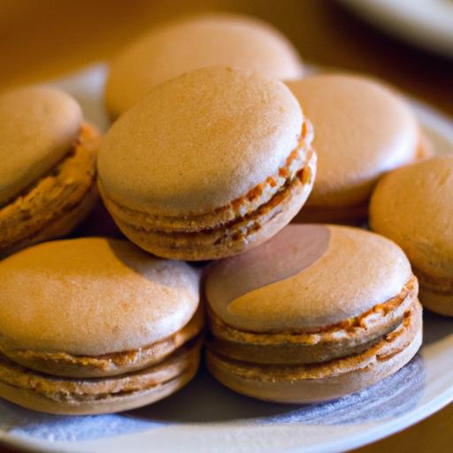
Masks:
[[[130,242],[45,242],[0,262],[0,343],[82,356],[150,345],[192,318],[198,282]]]

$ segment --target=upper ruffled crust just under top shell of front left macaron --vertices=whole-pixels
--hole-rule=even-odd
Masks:
[[[0,351],[19,365],[55,376],[75,378],[113,376],[157,364],[200,334],[203,324],[203,310],[199,305],[194,317],[178,332],[162,341],[139,349],[101,356],[76,356],[67,352],[7,349],[4,346],[0,346]]]

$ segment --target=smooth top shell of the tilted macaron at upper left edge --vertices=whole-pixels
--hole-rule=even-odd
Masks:
[[[81,130],[81,108],[55,88],[0,95],[0,204],[8,203],[65,156]]]

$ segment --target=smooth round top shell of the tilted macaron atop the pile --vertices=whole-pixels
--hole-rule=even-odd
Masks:
[[[226,67],[156,88],[104,137],[104,194],[160,215],[211,212],[265,182],[298,146],[303,114],[280,81]]]

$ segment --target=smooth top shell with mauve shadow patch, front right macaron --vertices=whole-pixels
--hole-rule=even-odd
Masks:
[[[310,332],[397,296],[411,276],[403,251],[378,234],[290,225],[256,249],[211,265],[205,296],[237,329]]]

